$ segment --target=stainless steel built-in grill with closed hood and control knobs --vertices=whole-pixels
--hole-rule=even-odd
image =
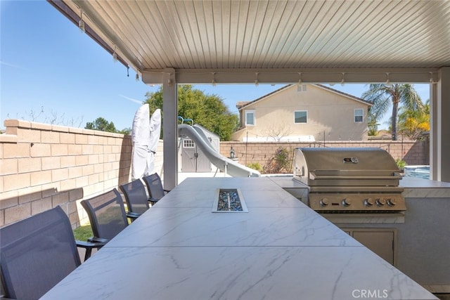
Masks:
[[[405,211],[401,174],[380,148],[296,148],[294,179],[309,186],[309,207],[323,213]]]

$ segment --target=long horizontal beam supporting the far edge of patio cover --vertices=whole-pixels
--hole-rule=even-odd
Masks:
[[[164,70],[146,70],[146,84],[162,84]],[[177,84],[293,84],[293,83],[433,83],[437,68],[349,68],[349,69],[171,69]]]

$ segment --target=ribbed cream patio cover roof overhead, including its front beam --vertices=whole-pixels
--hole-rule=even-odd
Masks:
[[[429,82],[450,1],[49,0],[147,84]]]

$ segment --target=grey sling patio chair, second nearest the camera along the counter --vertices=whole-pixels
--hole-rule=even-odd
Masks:
[[[91,222],[94,237],[91,240],[108,242],[117,233],[128,226],[129,218],[137,218],[136,214],[127,214],[119,191],[114,188],[107,193],[92,197],[81,202]]]

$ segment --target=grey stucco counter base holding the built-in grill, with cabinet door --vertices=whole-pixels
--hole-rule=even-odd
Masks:
[[[304,204],[308,187],[293,176],[270,177]],[[403,177],[401,214],[321,214],[401,272],[436,294],[450,293],[450,183]],[[355,236],[355,233],[357,236]],[[378,237],[378,238],[377,238]],[[392,247],[394,246],[394,247]]]

